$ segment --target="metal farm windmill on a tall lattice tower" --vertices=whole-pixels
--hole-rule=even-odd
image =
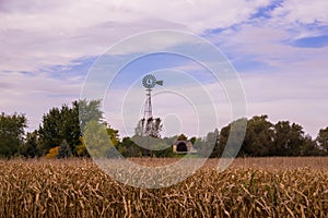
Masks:
[[[145,104],[142,119],[142,135],[153,135],[153,110],[152,110],[152,90],[156,85],[163,85],[163,81],[157,81],[153,74],[148,74],[142,78],[142,85],[145,87]]]

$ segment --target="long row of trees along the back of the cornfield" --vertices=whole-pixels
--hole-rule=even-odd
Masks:
[[[119,132],[113,129],[103,118],[99,110],[99,100],[75,100],[71,106],[62,105],[61,108],[54,107],[43,116],[39,128],[33,132],[25,133],[27,119],[24,114],[0,116],[0,157],[90,157],[90,155],[102,155],[109,157],[113,149],[119,152],[124,157],[176,157],[171,145],[177,140],[189,140],[197,150],[196,156],[221,157],[229,137],[238,135],[238,131],[232,132],[232,125],[239,121],[247,123],[246,133],[239,157],[266,157],[266,156],[325,156],[328,155],[328,126],[320,129],[316,138],[306,134],[303,126],[290,121],[272,123],[267,114],[255,116],[250,119],[242,118],[223,126],[220,131],[215,129],[204,137],[184,134],[172,137],[161,137],[161,119],[150,121],[155,130],[152,137],[145,138],[141,134],[140,120],[133,136],[119,138]],[[108,141],[95,138],[92,133],[105,130]],[[86,143],[89,141],[91,143]],[[103,147],[93,147],[92,142],[101,142]],[[140,142],[148,142],[150,147],[139,146]],[[110,144],[107,146],[107,144]]]

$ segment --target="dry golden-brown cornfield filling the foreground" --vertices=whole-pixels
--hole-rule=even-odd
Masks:
[[[162,166],[175,159],[132,159]],[[164,189],[119,183],[86,159],[0,160],[0,217],[327,217],[328,157],[218,161]]]

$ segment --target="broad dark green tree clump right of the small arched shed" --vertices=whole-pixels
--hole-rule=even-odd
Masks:
[[[234,121],[237,122],[237,121]],[[232,144],[241,143],[239,131],[231,132],[231,124],[221,129],[219,142],[211,157],[221,157],[227,138]],[[229,153],[233,153],[231,150]],[[255,116],[247,120],[245,138],[238,156],[317,156],[324,155],[309,135],[304,135],[303,128],[290,121],[279,121],[273,124],[268,116]]]

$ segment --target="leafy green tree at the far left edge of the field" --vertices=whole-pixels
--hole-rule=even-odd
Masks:
[[[0,156],[12,157],[23,145],[27,119],[24,114],[0,116]]]

